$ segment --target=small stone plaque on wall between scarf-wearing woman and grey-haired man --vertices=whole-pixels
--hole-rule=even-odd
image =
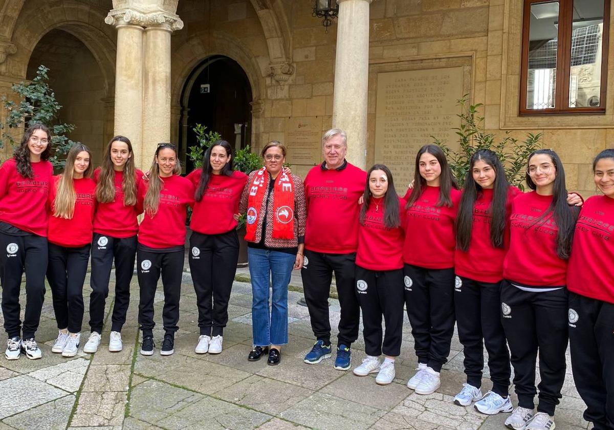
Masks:
[[[294,117],[286,120],[286,161],[292,165],[317,165],[322,158],[322,118]]]

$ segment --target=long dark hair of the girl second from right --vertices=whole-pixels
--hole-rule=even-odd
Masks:
[[[532,223],[543,224],[548,219],[552,218],[558,227],[558,233],[556,234],[556,255],[560,259],[567,260],[571,254],[573,229],[575,227],[576,218],[578,215],[578,208],[570,209],[567,205],[567,187],[565,187],[565,170],[561,158],[556,152],[551,149],[539,149],[538,151],[531,152],[527,159],[527,173],[525,174],[525,180],[527,186],[530,189],[536,190],[537,186],[535,182],[529,176],[529,163],[534,155],[545,154],[550,157],[556,171],[554,176],[554,182],[552,186],[552,202],[546,211],[538,216]]]

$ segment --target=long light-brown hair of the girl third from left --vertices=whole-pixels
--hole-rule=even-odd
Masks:
[[[98,200],[98,203],[112,203],[115,200],[115,169],[111,160],[111,146],[114,142],[123,142],[128,145],[130,157],[123,166],[123,205],[134,206],[136,205],[136,181],[134,179],[136,168],[134,167],[134,157],[132,156],[132,144],[130,139],[125,136],[115,136],[109,141],[106,149],[104,149],[100,176],[98,177],[98,184],[96,184],[96,200]]]

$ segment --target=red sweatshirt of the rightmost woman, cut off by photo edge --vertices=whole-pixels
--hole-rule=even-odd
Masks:
[[[573,234],[567,288],[614,303],[614,198],[588,198]]]

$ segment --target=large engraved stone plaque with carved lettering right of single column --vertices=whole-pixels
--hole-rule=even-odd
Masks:
[[[456,149],[463,68],[408,70],[378,74],[375,162],[394,174],[403,195],[413,179],[416,153],[435,136]]]

